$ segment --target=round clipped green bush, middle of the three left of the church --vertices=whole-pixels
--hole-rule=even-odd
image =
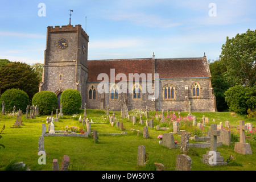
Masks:
[[[32,105],[38,105],[39,113],[42,115],[51,114],[52,110],[56,110],[58,99],[55,93],[51,91],[41,91],[32,98]]]

